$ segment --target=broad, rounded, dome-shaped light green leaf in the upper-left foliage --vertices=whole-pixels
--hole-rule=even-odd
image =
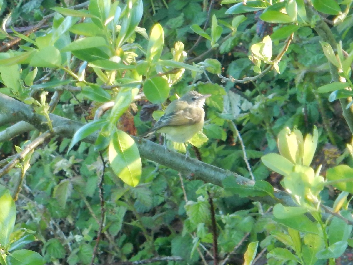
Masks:
[[[30,63],[30,66],[54,68],[61,65],[61,54],[54,46],[47,46],[36,52]]]

